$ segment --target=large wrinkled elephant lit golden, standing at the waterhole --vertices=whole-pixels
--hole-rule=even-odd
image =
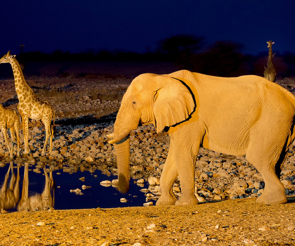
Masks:
[[[118,164],[119,191],[129,188],[130,139],[140,124],[167,131],[170,147],[156,205],[198,204],[195,163],[199,148],[243,156],[258,170],[265,189],[257,202],[287,202],[279,177],[295,136],[295,97],[263,77],[215,77],[181,70],[134,78],[109,134]],[[182,196],[172,185],[179,177]]]

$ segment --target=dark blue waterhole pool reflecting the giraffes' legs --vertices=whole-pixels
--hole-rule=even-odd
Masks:
[[[20,166],[20,165],[18,165]],[[127,194],[120,194],[116,188],[100,185],[101,181],[117,179],[117,176],[106,176],[100,170],[94,173],[81,172],[64,173],[62,169],[45,173],[32,171],[34,166],[25,164],[18,167],[8,163],[0,167],[0,208],[8,211],[23,211],[26,208],[35,210],[36,207],[52,206],[55,209],[81,209],[81,208],[116,208],[143,206],[146,202],[145,193],[130,181],[130,190]],[[13,171],[12,171],[13,170]],[[58,174],[60,173],[60,174]],[[97,176],[97,177],[96,177]],[[85,177],[85,181],[79,178]],[[82,185],[91,186],[83,190]],[[83,195],[70,192],[79,188]],[[126,198],[128,202],[120,202],[120,198]]]

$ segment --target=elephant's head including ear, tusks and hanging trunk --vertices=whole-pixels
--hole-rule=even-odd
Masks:
[[[118,163],[119,191],[129,189],[129,134],[138,125],[153,123],[157,132],[164,127],[185,121],[195,109],[195,98],[189,87],[169,75],[145,73],[136,77],[123,96],[109,134],[114,144]]]

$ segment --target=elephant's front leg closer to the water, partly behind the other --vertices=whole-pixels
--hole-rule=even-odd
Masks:
[[[169,151],[167,159],[160,177],[160,188],[161,196],[157,200],[156,205],[174,205],[176,202],[176,197],[172,191],[172,185],[177,178],[177,169],[175,165],[175,159],[173,157],[173,152]]]

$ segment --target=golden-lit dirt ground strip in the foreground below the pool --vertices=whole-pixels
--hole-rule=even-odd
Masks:
[[[294,213],[295,197],[273,206],[239,199],[13,212],[0,214],[0,245],[295,245]]]

